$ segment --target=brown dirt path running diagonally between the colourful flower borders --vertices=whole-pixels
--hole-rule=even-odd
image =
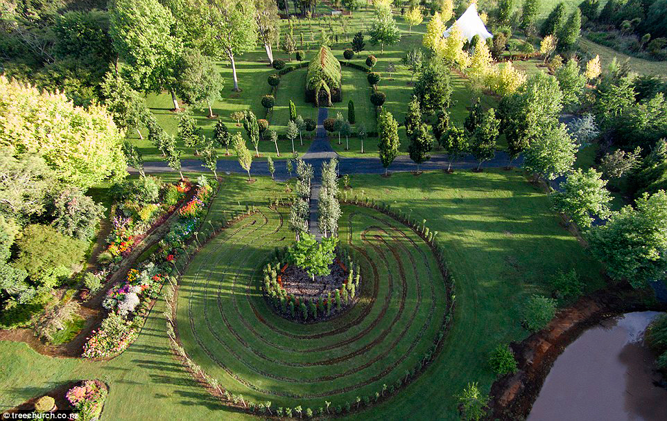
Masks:
[[[191,189],[192,190],[192,189]],[[219,186],[218,186],[219,191]],[[100,327],[102,320],[104,319],[105,312],[101,308],[102,301],[106,296],[107,292],[116,285],[122,278],[124,278],[128,271],[131,269],[132,265],[135,264],[137,259],[150,247],[153,247],[154,244],[157,244],[159,240],[162,240],[162,237],[168,230],[169,226],[173,222],[174,215],[177,215],[177,211],[186,204],[194,195],[193,191],[189,191],[187,195],[180,201],[177,206],[173,207],[170,213],[164,215],[160,218],[161,222],[154,224],[153,226],[146,231],[144,238],[141,239],[139,244],[130,251],[130,254],[127,258],[123,259],[121,265],[116,271],[108,278],[107,282],[104,284],[104,287],[98,292],[95,296],[88,298],[86,301],[80,302],[81,309],[80,312],[85,316],[86,324],[83,330],[81,330],[76,337],[67,343],[62,343],[59,346],[50,346],[42,342],[39,338],[35,337],[33,330],[31,328],[19,328],[12,330],[0,330],[0,341],[13,341],[13,342],[24,342],[30,346],[33,350],[40,353],[41,355],[46,355],[46,357],[57,357],[57,358],[79,358],[83,350],[83,344],[85,343],[87,337],[91,334],[92,330]],[[217,195],[217,192],[216,192]],[[212,201],[211,201],[212,203]],[[78,294],[75,295],[74,300],[79,300]],[[150,308],[155,304],[155,300],[150,303]],[[145,323],[145,321],[144,321]],[[138,336],[138,334],[137,334]],[[135,337],[136,339],[136,337]],[[134,341],[133,339],[132,341]],[[122,354],[122,352],[121,352]],[[118,354],[120,355],[120,354]],[[115,355],[114,357],[117,357]],[[107,359],[112,359],[110,357]],[[106,359],[105,359],[106,360]]]

